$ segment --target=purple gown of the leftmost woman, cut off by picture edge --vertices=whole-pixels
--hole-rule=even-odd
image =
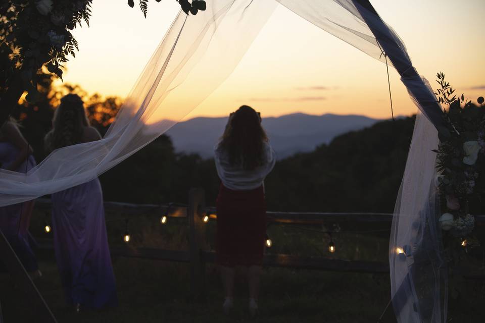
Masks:
[[[12,163],[18,156],[19,149],[10,142],[0,142],[0,168]],[[16,172],[25,173],[35,166],[35,159],[30,155]],[[0,207],[0,230],[9,241],[12,249],[19,257],[25,270],[38,270],[37,259],[29,242],[29,225],[34,201],[27,201]]]

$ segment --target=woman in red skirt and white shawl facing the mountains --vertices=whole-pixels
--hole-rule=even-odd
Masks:
[[[234,266],[246,266],[254,316],[266,237],[263,181],[275,163],[259,113],[243,105],[230,114],[215,147],[215,163],[222,182],[216,203],[216,251],[226,293],[223,308],[228,313],[233,307]]]

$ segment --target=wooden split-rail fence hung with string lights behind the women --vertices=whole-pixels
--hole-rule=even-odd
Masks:
[[[178,251],[135,248],[132,246],[113,246],[111,247],[111,254],[122,257],[189,263],[192,296],[200,297],[205,294],[206,263],[215,261],[214,251],[208,248],[206,225],[203,218],[208,215],[211,219],[217,219],[217,214],[214,207],[205,206],[205,192],[203,189],[191,189],[188,195],[187,206],[105,202],[105,208],[110,211],[130,215],[157,210],[160,214],[165,214],[169,218],[186,218],[189,229],[188,250]],[[36,201],[36,208],[50,209],[50,207],[50,200],[38,199]],[[269,223],[280,224],[352,225],[352,227],[372,224],[373,226],[390,230],[392,219],[392,213],[267,212],[267,220]],[[485,216],[477,216],[475,221],[477,226],[485,226]],[[52,249],[52,243],[50,245],[40,244],[40,247]],[[389,263],[387,262],[304,257],[288,254],[266,254],[263,258],[263,264],[265,266],[324,271],[389,273]]]

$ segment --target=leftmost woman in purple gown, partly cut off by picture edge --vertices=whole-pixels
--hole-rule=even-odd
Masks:
[[[0,168],[26,173],[35,166],[32,149],[15,120],[0,127]],[[29,225],[34,201],[0,207],[0,230],[32,278],[40,277],[37,260],[30,248]]]

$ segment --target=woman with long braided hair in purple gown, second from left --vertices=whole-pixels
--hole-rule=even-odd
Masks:
[[[98,131],[89,126],[81,98],[64,96],[53,130],[45,136],[47,150],[99,139]],[[54,247],[68,303],[78,311],[117,305],[100,181],[54,193],[51,199]]]

